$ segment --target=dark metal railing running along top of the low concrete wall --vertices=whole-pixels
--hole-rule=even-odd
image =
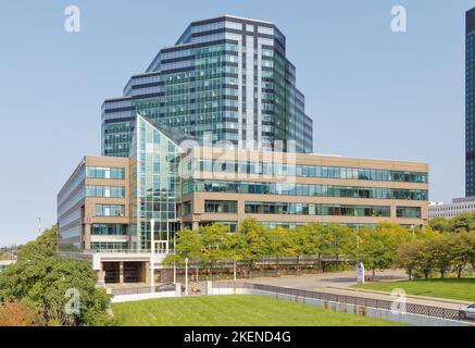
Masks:
[[[283,295],[291,295],[297,297],[305,297],[318,299],[322,301],[332,301],[347,304],[355,304],[371,308],[378,308],[385,310],[391,310],[393,301],[380,300],[374,298],[366,298],[360,296],[348,296],[348,295],[337,295],[330,293],[320,293],[312,290],[301,290],[288,287],[272,286],[265,284],[251,284],[251,283],[234,283],[234,282],[223,282],[213,283],[215,288],[245,288],[245,289],[255,289],[261,291],[276,293]],[[426,304],[416,303],[405,303],[405,312],[412,314],[435,316],[441,319],[460,320],[459,310],[442,307],[433,307]]]

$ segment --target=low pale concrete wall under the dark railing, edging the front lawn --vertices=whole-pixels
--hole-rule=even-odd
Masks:
[[[398,322],[417,326],[473,326],[471,323],[460,322],[455,320],[441,319],[412,313],[392,313],[386,309],[371,308],[364,306],[355,306],[349,303],[340,303],[333,301],[324,301],[315,298],[299,297],[295,295],[285,295],[271,291],[245,289],[245,288],[212,288],[209,295],[261,295],[273,298],[290,300],[299,303],[317,306],[321,308],[333,310],[339,313],[350,313],[364,315],[368,318],[382,319],[391,322]]]

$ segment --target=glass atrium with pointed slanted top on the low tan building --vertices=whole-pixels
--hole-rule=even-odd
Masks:
[[[155,221],[154,240],[170,240],[179,229],[180,139],[173,133],[137,116],[130,147],[130,236],[133,249],[149,249],[150,221]],[[159,244],[160,246],[160,244]]]

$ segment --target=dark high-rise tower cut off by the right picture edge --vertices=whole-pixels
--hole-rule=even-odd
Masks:
[[[475,196],[475,8],[465,23],[465,196]]]

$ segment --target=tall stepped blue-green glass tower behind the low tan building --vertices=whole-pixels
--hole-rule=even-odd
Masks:
[[[103,156],[128,157],[136,114],[209,144],[313,150],[286,38],[268,22],[225,15],[191,23],[123,97],[104,101]]]

